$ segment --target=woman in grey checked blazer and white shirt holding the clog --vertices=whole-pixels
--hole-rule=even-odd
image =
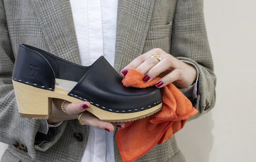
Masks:
[[[98,11],[102,28],[97,25]],[[85,66],[101,53],[121,76],[135,68],[146,75],[145,82],[160,75],[156,86],[174,83],[181,88],[199,111],[197,116],[215,104],[216,78],[202,0],[88,0],[80,4],[74,0],[1,0],[0,12],[0,140],[9,144],[3,162],[122,161],[114,126],[124,127],[124,123],[113,125],[84,113],[81,119],[88,126],[80,125],[77,117],[90,109],[89,102],[64,102],[62,110],[63,100],[55,99],[48,119],[50,125],[46,120],[19,116],[11,82],[19,43]],[[87,23],[79,24],[86,19],[85,15]],[[162,60],[149,58],[152,54],[158,54]],[[137,161],[185,159],[172,138]]]

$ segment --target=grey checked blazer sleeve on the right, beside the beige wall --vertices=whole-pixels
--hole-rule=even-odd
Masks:
[[[177,0],[173,19],[171,51],[179,60],[192,62],[198,69],[197,118],[215,105],[216,76],[204,22],[203,0]]]

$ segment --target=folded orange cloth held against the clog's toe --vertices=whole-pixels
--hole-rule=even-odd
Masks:
[[[122,80],[126,87],[146,88],[155,86],[160,77],[149,83],[142,81],[144,74],[136,69],[129,69]],[[188,119],[198,111],[191,101],[173,84],[161,88],[162,109],[143,119],[126,123],[124,129],[116,134],[117,144],[124,162],[134,161],[156,144],[161,144],[182,129]]]

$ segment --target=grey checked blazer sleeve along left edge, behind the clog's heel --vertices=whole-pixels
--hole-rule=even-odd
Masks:
[[[11,79],[14,61],[4,4],[0,0],[0,141],[9,145],[18,142],[26,146],[28,154],[35,158],[35,150],[46,151],[57,142],[64,132],[66,122],[58,127],[55,138],[50,142],[40,147],[34,144],[39,120],[19,116]]]

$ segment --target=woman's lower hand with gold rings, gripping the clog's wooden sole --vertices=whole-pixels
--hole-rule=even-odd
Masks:
[[[82,112],[86,111],[87,109],[90,109],[91,106],[90,102],[87,101],[82,101],[78,103],[70,103],[68,101],[65,101],[63,104],[63,109],[67,112],[67,114],[65,114],[61,109],[61,104],[63,101],[63,99],[53,98],[52,114],[47,120],[49,124],[63,120],[77,119]],[[81,116],[81,120],[86,125],[100,129],[105,129],[106,131],[109,132],[114,131],[114,126],[118,128],[125,127],[124,123],[109,123],[100,121],[96,116],[92,115],[89,112],[83,113],[83,115]]]

